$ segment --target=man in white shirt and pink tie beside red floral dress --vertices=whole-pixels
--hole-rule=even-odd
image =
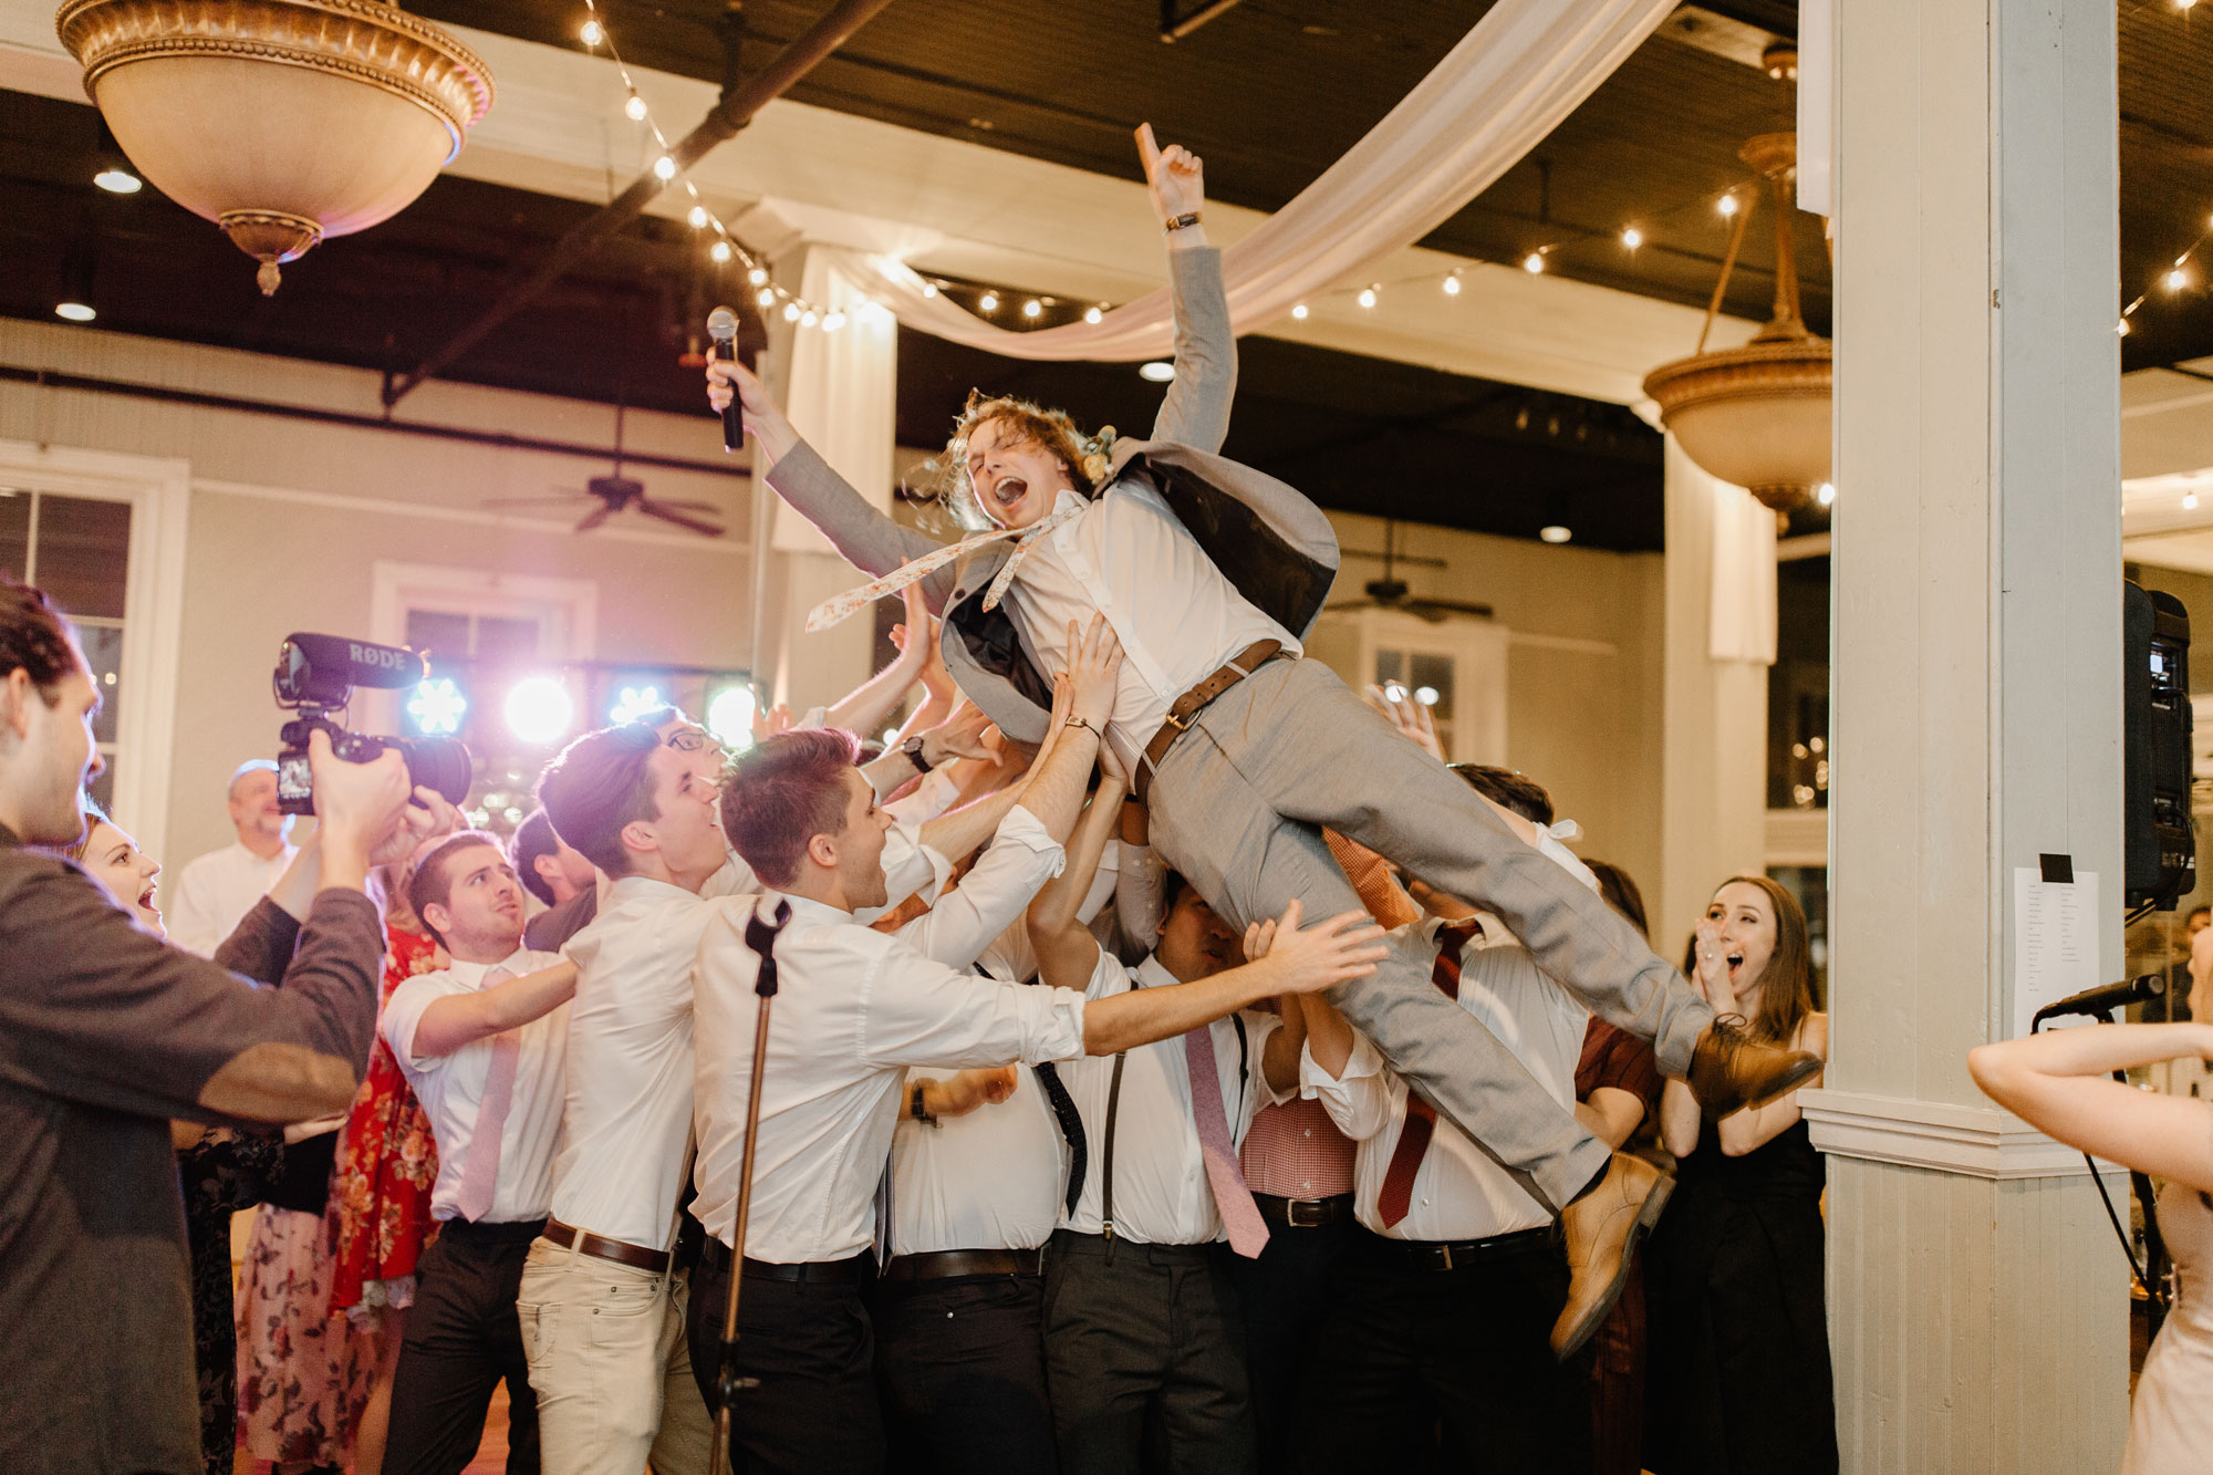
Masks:
[[[438,844],[407,897],[454,966],[392,990],[378,1025],[438,1141],[429,1211],[440,1223],[416,1265],[385,1468],[460,1475],[505,1380],[507,1468],[536,1475],[516,1289],[553,1194],[575,968],[522,946],[522,886],[491,835]]]

